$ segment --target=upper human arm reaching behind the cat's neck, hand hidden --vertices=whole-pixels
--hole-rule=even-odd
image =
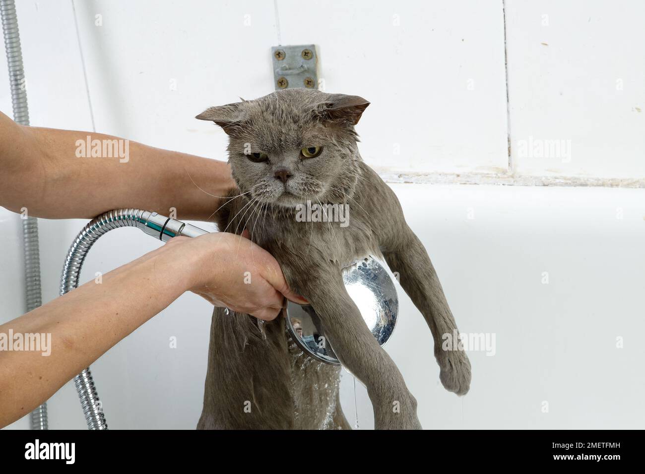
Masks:
[[[0,206],[31,217],[91,219],[140,208],[208,220],[235,182],[228,164],[128,141],[128,157],[77,157],[79,141],[101,133],[16,124],[0,113]],[[124,143],[121,143],[125,150]],[[85,150],[86,154],[88,150]]]

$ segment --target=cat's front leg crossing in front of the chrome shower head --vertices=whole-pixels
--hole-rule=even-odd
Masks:
[[[361,380],[374,409],[374,426],[384,430],[421,428],[417,401],[408,391],[401,372],[382,350],[362,319],[333,264],[300,272],[283,263],[291,288],[308,301],[323,324],[324,333],[342,365]]]

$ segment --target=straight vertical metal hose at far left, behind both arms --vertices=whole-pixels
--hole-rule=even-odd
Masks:
[[[29,108],[25,88],[23,52],[20,48],[18,20],[14,0],[0,0],[2,30],[5,37],[6,62],[9,66],[11,104],[14,121],[20,125],[29,124]],[[27,212],[29,212],[27,210]],[[23,243],[25,254],[25,295],[27,311],[43,304],[40,281],[40,250],[38,246],[38,221],[34,217],[23,218]],[[32,430],[47,430],[47,403],[32,411]]]

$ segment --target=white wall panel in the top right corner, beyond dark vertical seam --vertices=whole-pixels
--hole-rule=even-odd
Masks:
[[[639,0],[506,0],[517,173],[645,178],[644,17]]]

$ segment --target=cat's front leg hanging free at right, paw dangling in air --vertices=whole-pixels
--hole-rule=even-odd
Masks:
[[[399,273],[401,286],[430,326],[441,383],[446,390],[465,395],[470,388],[471,378],[468,356],[463,349],[459,349],[459,344],[446,344],[450,347],[446,350],[443,348],[446,335],[450,335],[450,338],[459,335],[457,323],[428,252],[412,230],[404,223],[402,226],[402,233],[398,230],[395,243],[382,249],[383,255],[392,272]]]

